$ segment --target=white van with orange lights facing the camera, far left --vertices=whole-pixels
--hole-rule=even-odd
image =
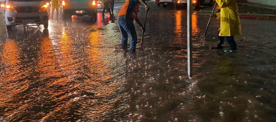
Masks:
[[[48,5],[45,0],[7,0],[5,20],[7,30],[21,24],[43,24],[48,28]]]

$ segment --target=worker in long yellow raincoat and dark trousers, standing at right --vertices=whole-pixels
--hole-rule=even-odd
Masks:
[[[216,0],[220,6],[220,13],[216,14],[217,19],[220,18],[220,30],[218,39],[220,43],[217,44],[217,49],[222,49],[224,39],[229,43],[232,50],[237,49],[234,36],[241,35],[239,9],[236,0]]]

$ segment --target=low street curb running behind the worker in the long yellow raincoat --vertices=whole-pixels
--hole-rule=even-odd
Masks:
[[[252,18],[252,19],[276,19],[274,14],[256,14],[256,13],[239,13],[240,18]],[[209,16],[210,13],[197,12],[195,15],[205,15]]]

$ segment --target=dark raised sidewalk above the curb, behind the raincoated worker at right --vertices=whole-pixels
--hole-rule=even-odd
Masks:
[[[241,18],[256,18],[256,19],[276,19],[276,6],[273,5],[264,5],[259,3],[252,2],[241,2],[237,3],[239,7],[240,17]],[[202,9],[200,12],[197,12],[197,15],[209,15],[213,10],[213,7]],[[220,10],[220,7],[217,6],[215,13]]]

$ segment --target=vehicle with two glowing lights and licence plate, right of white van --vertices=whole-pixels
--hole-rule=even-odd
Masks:
[[[71,18],[72,15],[82,17],[88,15],[92,21],[97,21],[97,1],[96,0],[62,0],[63,19]]]

